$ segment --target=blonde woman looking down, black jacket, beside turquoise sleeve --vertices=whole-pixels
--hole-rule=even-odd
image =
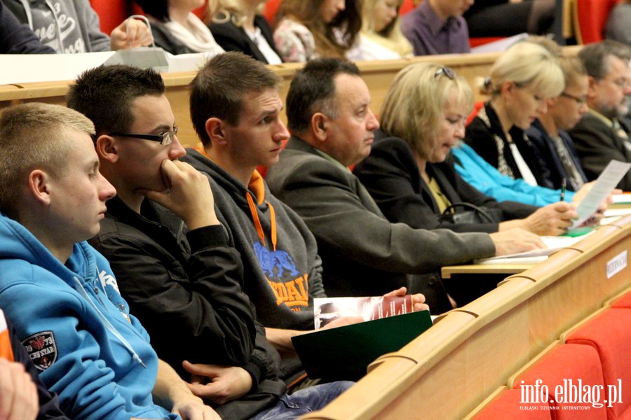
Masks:
[[[484,80],[491,99],[467,127],[467,144],[502,174],[552,187],[524,130],[547,111],[548,99],[564,86],[551,52],[534,43],[516,43],[498,57]]]

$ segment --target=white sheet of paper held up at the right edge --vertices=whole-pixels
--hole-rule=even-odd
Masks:
[[[611,191],[616,188],[620,179],[623,179],[623,176],[625,176],[630,168],[631,163],[619,162],[618,160],[609,161],[609,164],[607,164],[604,171],[598,176],[590,192],[585,195],[581,204],[578,204],[578,207],[576,207],[578,219],[574,221],[571,228],[582,225],[595,213],[600,204],[611,194]]]

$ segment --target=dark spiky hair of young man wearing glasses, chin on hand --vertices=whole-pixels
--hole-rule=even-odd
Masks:
[[[96,134],[127,132],[137,97],[164,93],[160,73],[132,66],[99,66],[81,73],[67,95],[68,106],[90,118]]]

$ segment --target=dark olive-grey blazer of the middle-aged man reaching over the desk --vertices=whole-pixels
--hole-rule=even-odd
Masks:
[[[318,241],[327,295],[381,295],[405,286],[405,274],[435,272],[495,252],[486,234],[390,223],[356,176],[297,137],[287,142],[266,181]]]

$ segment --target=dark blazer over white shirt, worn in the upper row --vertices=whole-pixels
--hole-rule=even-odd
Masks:
[[[259,61],[269,64],[262,54],[261,50],[257,47],[257,44],[247,36],[245,29],[237,27],[231,20],[224,23],[210,22],[208,25],[212,36],[215,37],[215,41],[226,51],[240,51],[244,54],[250,55]],[[261,29],[261,34],[265,38],[265,41],[269,43],[269,46],[278,54],[276,50],[276,44],[274,44],[274,38],[272,36],[271,28],[267,23],[267,20],[261,15],[255,17],[255,27]],[[278,54],[280,57],[280,54]]]

